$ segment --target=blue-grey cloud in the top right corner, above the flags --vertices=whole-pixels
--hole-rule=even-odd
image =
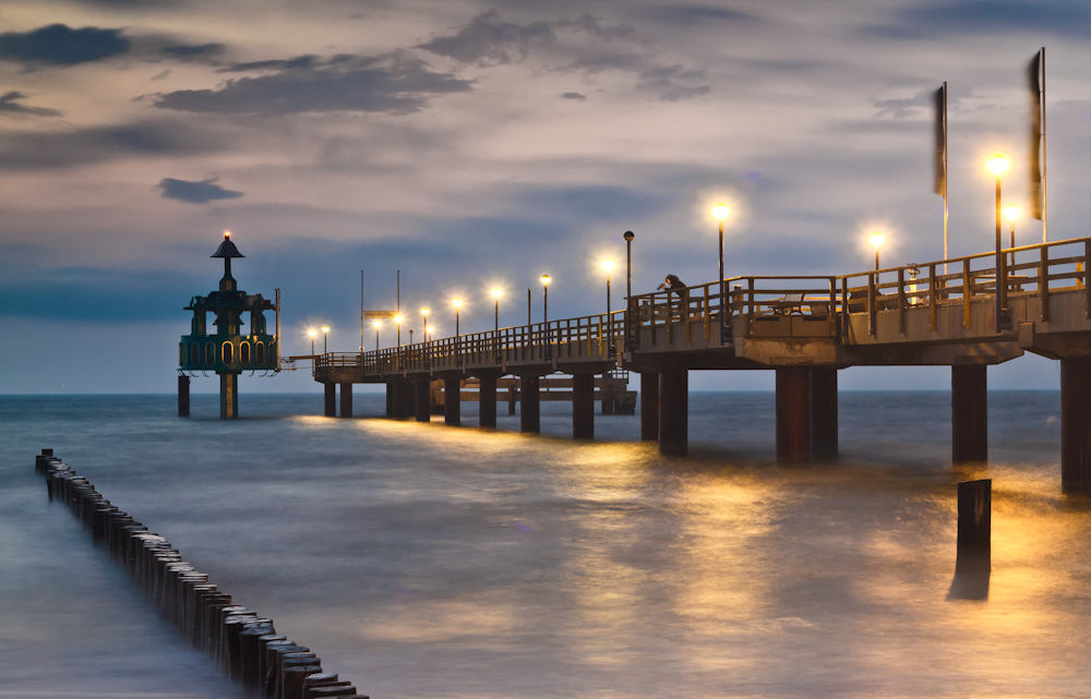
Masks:
[[[1003,32],[1052,34],[1086,40],[1091,4],[1069,0],[942,0],[912,3],[888,23],[861,32],[882,38],[920,39],[945,35],[993,35]],[[1033,51],[1033,46],[1030,50]]]

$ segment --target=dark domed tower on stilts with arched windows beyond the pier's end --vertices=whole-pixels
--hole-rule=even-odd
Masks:
[[[190,334],[178,345],[178,414],[190,414],[190,377],[215,372],[219,375],[219,417],[238,418],[239,374],[280,371],[280,290],[276,290],[275,301],[239,290],[231,276],[231,260],[244,255],[231,242],[231,231],[224,232],[224,241],[212,256],[224,260],[224,278],[217,291],[193,297],[185,306],[193,318]],[[265,311],[276,314],[273,335],[265,325]],[[215,316],[213,334],[208,333],[208,313]],[[250,315],[249,333],[242,329],[244,313]]]

